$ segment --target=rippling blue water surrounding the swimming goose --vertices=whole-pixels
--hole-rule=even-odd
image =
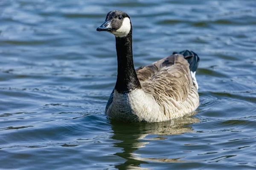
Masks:
[[[181,119],[104,115],[116,81],[111,10],[133,23],[135,67],[189,49],[200,106]],[[256,168],[255,0],[1,0],[0,169]]]

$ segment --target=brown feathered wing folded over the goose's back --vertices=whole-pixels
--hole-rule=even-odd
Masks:
[[[143,91],[152,94],[156,100],[169,96],[176,101],[185,101],[193,87],[189,63],[181,54],[137,68],[136,72]]]

